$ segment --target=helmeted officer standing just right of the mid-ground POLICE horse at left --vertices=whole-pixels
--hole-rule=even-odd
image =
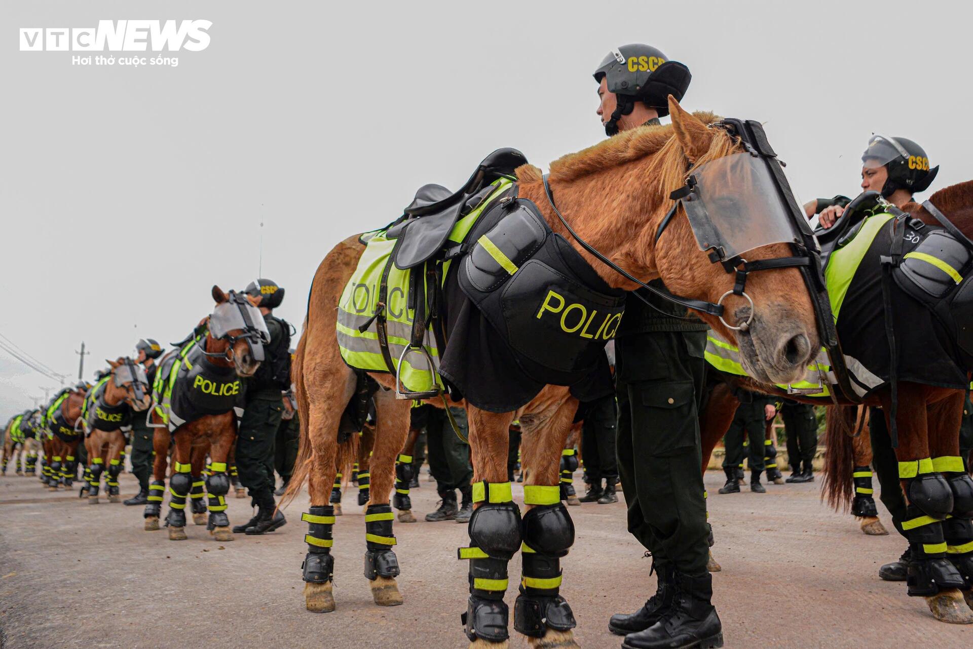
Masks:
[[[284,289],[276,282],[259,279],[247,285],[244,293],[260,298],[259,308],[270,331],[270,344],[264,347],[265,359],[257,373],[247,381],[243,417],[236,437],[236,468],[240,482],[250,492],[257,514],[234,532],[264,534],[287,523],[282,512],[274,513],[273,461],[277,427],[283,415],[283,393],[291,386],[291,325],[276,318],[273,309],[284,299]]]

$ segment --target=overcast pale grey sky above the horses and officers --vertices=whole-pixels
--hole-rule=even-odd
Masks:
[[[205,18],[211,42],[175,68],[18,51],[20,27],[108,18]],[[84,340],[88,378],[139,337],[179,340],[214,283],[257,276],[261,222],[300,327],[320,259],[418,186],[455,187],[499,147],[546,167],[603,138],[591,73],[632,42],[690,67],[685,107],[765,121],[799,197],[857,193],[873,131],[924,146],[932,190],[969,180],[971,18],[915,1],[9,0],[0,334],[74,377]],[[0,352],[0,418],[42,386]]]

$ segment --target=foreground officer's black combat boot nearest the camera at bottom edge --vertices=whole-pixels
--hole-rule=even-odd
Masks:
[[[667,615],[642,632],[625,636],[625,649],[671,649],[723,646],[723,625],[710,599],[713,578],[708,572],[699,577],[676,574],[672,606]]]

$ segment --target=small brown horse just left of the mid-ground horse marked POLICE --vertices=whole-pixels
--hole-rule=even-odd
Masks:
[[[111,370],[85,398],[85,450],[88,452],[88,502],[98,504],[101,474],[107,467],[105,486],[109,502],[121,502],[119,473],[122,472],[122,453],[132,417],[149,409],[151,396],[144,370],[139,373],[134,361],[126,358],[108,360]],[[120,378],[123,369],[124,378]]]

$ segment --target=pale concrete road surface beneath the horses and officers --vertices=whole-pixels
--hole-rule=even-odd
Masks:
[[[465,647],[467,565],[455,549],[468,543],[466,528],[421,521],[437,500],[427,479],[423,471],[413,490],[420,522],[395,524],[405,604],[372,603],[362,576],[364,517],[351,488],[335,526],[338,609],[313,614],[301,581],[306,495],[270,535],[221,543],[191,523],[189,540],[169,541],[164,529],[143,531],[141,507],[89,505],[77,491],[45,491],[36,478],[0,478],[0,647]],[[905,584],[878,578],[904,540],[894,531],[862,534],[851,516],[820,504],[819,481],[717,495],[722,482],[720,473],[706,476],[727,647],[973,645],[973,626],[935,621],[923,599],[906,597]],[[135,491],[127,473],[122,489],[126,497]],[[514,494],[523,501],[519,486]],[[585,648],[618,647],[608,616],[654,592],[651,562],[625,529],[624,500],[569,509],[577,540],[562,561],[561,594],[578,620],[575,636]],[[229,514],[234,524],[245,521],[249,500],[231,497]],[[884,510],[883,523],[892,529]],[[519,557],[510,566],[513,608]],[[527,645],[514,633],[511,646]]]

